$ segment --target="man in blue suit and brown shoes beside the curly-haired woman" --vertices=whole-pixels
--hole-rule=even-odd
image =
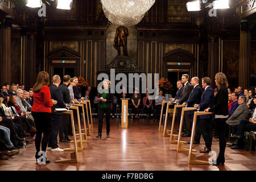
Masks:
[[[204,111],[208,107],[212,107],[214,105],[214,91],[210,84],[212,83],[212,80],[210,80],[209,77],[202,78],[202,86],[204,88],[203,95],[201,97],[200,102],[200,110]],[[195,104],[195,108],[198,105]],[[200,115],[200,133],[203,135],[204,141],[205,141],[205,147],[203,150],[200,150],[201,153],[208,153],[212,149],[212,117],[213,115]],[[197,124],[197,123],[196,123]]]

